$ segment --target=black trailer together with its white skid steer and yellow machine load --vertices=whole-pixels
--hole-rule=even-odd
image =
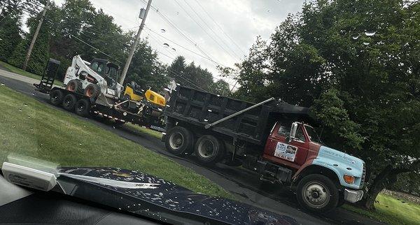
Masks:
[[[162,115],[165,97],[151,89],[142,89],[136,82],[124,88],[116,80],[119,66],[106,59],[88,62],[80,55],[73,57],[64,75],[64,88],[53,87],[59,61],[50,59],[41,82],[34,84],[38,92],[50,94],[53,106],[87,117],[98,115],[117,124],[131,122],[157,131],[165,129]]]

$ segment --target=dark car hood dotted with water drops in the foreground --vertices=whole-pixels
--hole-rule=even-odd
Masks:
[[[120,210],[138,214],[176,213],[202,222],[227,224],[297,224],[295,219],[262,210],[228,198],[195,193],[173,182],[152,175],[121,168],[60,168],[57,181],[65,194],[85,198]],[[132,187],[109,182],[90,182],[80,177],[134,184]],[[158,219],[164,217],[158,216]],[[156,218],[156,217],[155,217]],[[195,220],[196,221],[196,220]]]

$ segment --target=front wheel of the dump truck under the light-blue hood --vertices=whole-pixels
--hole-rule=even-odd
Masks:
[[[337,207],[339,192],[324,175],[310,174],[297,184],[297,202],[312,212],[328,212]]]

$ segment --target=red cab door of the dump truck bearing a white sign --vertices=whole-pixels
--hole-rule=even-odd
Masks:
[[[299,168],[307,158],[309,140],[304,133],[303,124],[298,126],[296,138],[286,141],[290,133],[291,122],[278,122],[267,139],[262,158],[277,164]]]

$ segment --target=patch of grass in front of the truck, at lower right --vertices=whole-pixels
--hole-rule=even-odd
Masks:
[[[398,198],[387,194],[379,194],[376,200],[379,203],[374,203],[376,208],[374,212],[356,208],[352,205],[343,205],[342,207],[387,224],[420,224],[419,204],[404,201],[401,198],[398,200]]]

